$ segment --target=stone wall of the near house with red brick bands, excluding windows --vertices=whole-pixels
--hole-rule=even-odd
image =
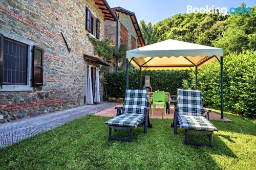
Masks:
[[[83,59],[83,54],[94,55],[85,30],[87,6],[101,22],[103,39],[104,17],[93,0],[0,1],[0,31],[32,41],[45,51],[42,87],[29,91],[0,89],[0,122],[84,104],[89,62]],[[71,47],[70,53],[60,33]]]

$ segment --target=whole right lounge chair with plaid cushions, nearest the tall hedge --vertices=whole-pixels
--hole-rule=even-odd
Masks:
[[[212,147],[213,132],[218,130],[209,121],[210,112],[211,110],[203,108],[201,91],[178,89],[177,107],[175,107],[174,122],[171,125],[174,127],[174,134],[177,135],[177,127],[185,128],[185,144]],[[188,132],[207,134],[209,142],[188,141]]]

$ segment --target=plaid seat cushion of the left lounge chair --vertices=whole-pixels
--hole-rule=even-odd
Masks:
[[[122,114],[114,117],[106,122],[105,124],[113,126],[125,126],[125,127],[135,127],[143,122],[144,114]]]

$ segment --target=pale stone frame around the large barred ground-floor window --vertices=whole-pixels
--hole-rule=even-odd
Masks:
[[[34,42],[22,36],[8,33],[4,30],[0,30],[0,34],[3,34],[6,38],[10,38],[28,45],[27,85],[3,85],[2,88],[0,87],[0,91],[32,91],[32,51]]]

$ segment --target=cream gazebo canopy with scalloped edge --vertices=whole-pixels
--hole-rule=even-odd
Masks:
[[[221,56],[222,48],[172,39],[126,52],[126,59],[142,70],[194,69]]]

